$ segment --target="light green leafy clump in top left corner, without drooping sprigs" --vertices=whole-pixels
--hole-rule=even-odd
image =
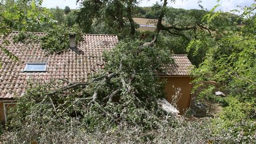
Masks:
[[[51,15],[48,9],[39,8],[41,2],[14,1],[3,2],[1,24],[17,31],[37,31],[43,28],[44,23],[50,23]]]

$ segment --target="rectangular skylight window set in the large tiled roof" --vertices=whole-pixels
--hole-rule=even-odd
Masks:
[[[26,63],[24,72],[46,72],[47,63]]]

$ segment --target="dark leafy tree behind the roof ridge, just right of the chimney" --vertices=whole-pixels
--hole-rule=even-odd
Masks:
[[[91,1],[81,2],[78,12],[79,25],[85,32],[92,30],[91,25],[104,24],[105,31],[113,34],[130,33],[135,35],[136,25],[132,19],[137,1]],[[128,22],[128,23],[126,23]]]

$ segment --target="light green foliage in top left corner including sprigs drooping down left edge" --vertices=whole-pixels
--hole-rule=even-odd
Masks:
[[[0,4],[0,35],[3,40],[0,44],[1,52],[10,59],[18,60],[6,46],[9,44],[8,35],[16,31],[43,30],[45,23],[51,23],[51,15],[48,9],[40,8],[40,1],[1,1]],[[1,61],[0,61],[1,67]]]

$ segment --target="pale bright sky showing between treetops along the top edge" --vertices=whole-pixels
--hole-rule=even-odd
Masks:
[[[174,8],[184,8],[184,9],[199,9],[199,4],[197,3],[199,0],[176,0],[175,3],[168,3],[168,6]],[[200,5],[203,5],[204,8],[212,9],[215,5],[220,4],[221,9],[223,11],[230,11],[232,9],[236,9],[237,6],[249,6],[254,0],[221,0],[219,3],[217,0],[201,0]],[[160,0],[142,0],[140,2],[141,7],[150,7],[156,2],[161,3]],[[79,5],[76,5],[76,0],[43,0],[43,7],[53,8],[60,7],[65,8],[68,5],[71,9],[79,8]]]

